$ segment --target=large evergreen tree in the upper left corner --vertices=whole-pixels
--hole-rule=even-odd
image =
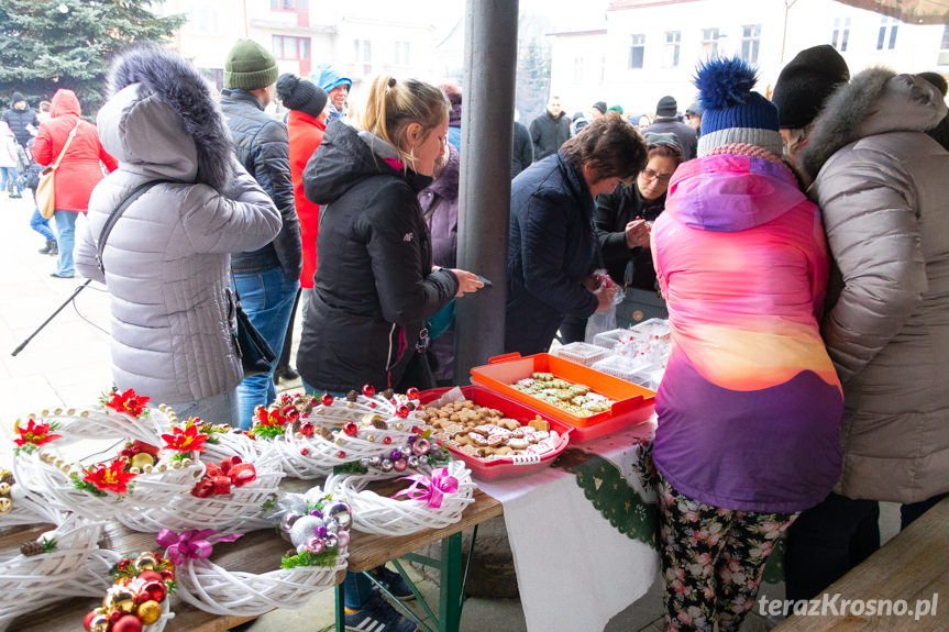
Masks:
[[[161,2],[158,2],[161,3]],[[185,15],[158,18],[148,0],[0,0],[0,102],[21,92],[35,107],[59,88],[85,112],[106,98],[115,51],[133,42],[165,43]]]

